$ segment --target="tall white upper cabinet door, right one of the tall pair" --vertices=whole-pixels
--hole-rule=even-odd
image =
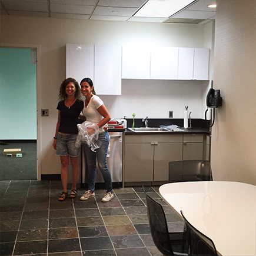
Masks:
[[[94,85],[97,94],[121,95],[122,47],[95,45]]]

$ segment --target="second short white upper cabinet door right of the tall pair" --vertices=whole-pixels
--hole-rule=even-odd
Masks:
[[[152,47],[151,48],[151,79],[178,79],[179,48]]]

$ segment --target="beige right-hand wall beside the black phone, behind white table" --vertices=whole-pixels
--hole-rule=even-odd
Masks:
[[[212,129],[214,179],[256,185],[256,1],[217,0],[214,88],[223,107]]]

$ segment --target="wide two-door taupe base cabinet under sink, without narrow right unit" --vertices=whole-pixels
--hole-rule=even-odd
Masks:
[[[124,182],[168,180],[168,162],[182,159],[182,135],[125,136]]]

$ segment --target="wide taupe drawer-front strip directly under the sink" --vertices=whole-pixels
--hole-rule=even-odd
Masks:
[[[182,134],[141,134],[141,135],[125,135],[125,143],[164,143],[164,142],[181,142]]]

